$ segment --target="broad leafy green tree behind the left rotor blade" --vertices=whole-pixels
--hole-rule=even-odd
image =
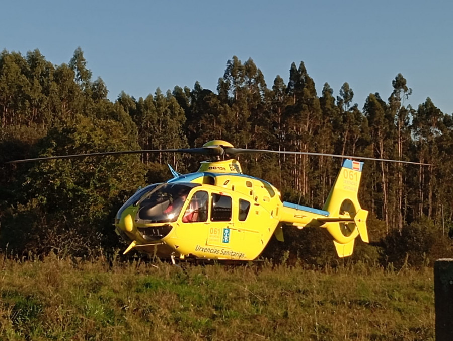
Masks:
[[[76,115],[70,124],[50,129],[36,144],[38,155],[130,149],[117,122]],[[3,246],[9,243],[18,252],[87,254],[112,245],[108,221],[127,197],[125,191],[142,183],[140,169],[137,156],[32,164],[22,183],[26,203],[5,213],[9,229],[2,234]]]

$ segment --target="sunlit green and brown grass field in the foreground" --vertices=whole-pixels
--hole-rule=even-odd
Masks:
[[[0,258],[2,340],[433,340],[433,270]]]

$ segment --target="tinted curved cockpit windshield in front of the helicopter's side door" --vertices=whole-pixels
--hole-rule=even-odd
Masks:
[[[144,193],[137,201],[138,218],[147,223],[176,221],[190,190],[195,183],[164,183]]]

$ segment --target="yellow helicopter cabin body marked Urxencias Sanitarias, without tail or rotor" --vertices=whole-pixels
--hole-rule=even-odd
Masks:
[[[208,171],[138,191],[118,212],[117,233],[158,256],[255,259],[280,223],[279,191],[239,173],[236,160],[203,162],[200,169]],[[174,211],[170,207],[177,200],[181,207]]]

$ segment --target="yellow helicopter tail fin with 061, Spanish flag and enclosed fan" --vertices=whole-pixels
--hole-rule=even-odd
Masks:
[[[318,219],[324,222],[334,238],[335,249],[339,257],[350,256],[354,249],[354,240],[360,238],[368,243],[366,217],[358,202],[358,189],[362,175],[363,162],[345,160],[335,183],[327,197],[323,210],[329,217]]]

